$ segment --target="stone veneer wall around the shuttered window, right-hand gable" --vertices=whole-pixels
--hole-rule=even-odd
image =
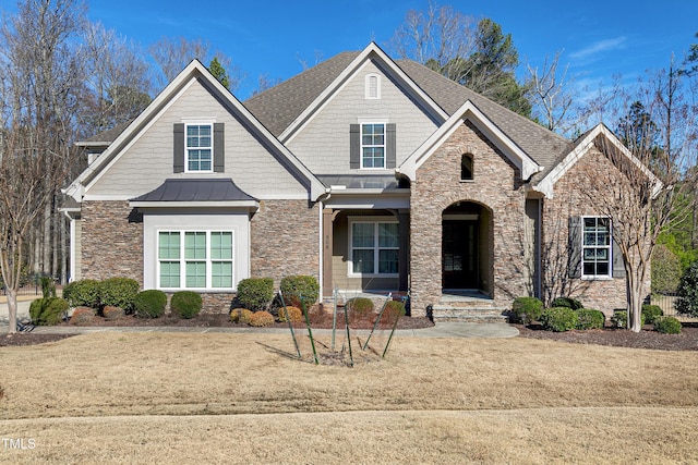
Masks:
[[[590,192],[593,187],[585,180],[605,176],[619,179],[621,173],[604,155],[592,148],[557,181],[553,198],[543,200],[542,258],[547,264],[543,266],[543,295],[570,295],[581,301],[585,307],[597,308],[611,316],[613,309],[627,307],[625,279],[569,279],[567,269],[569,218],[600,215],[594,211],[589,196],[603,198],[604,195],[598,189]],[[648,270],[647,292],[650,289],[649,277]]]

